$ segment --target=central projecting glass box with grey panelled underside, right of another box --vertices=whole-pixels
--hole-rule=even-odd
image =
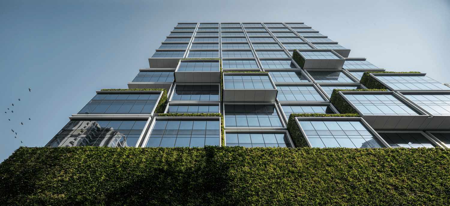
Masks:
[[[269,73],[223,73],[224,102],[275,102],[278,90]]]

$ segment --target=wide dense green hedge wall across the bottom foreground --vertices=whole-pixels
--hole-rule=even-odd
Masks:
[[[440,148],[20,147],[0,205],[450,205]]]

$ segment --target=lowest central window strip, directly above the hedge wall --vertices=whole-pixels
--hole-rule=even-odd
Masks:
[[[226,146],[291,147],[286,133],[226,133]]]

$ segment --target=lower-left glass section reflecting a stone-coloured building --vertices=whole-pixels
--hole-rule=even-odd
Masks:
[[[147,119],[73,119],[45,146],[136,146]]]

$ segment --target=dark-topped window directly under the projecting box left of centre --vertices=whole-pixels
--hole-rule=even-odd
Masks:
[[[172,101],[219,101],[219,85],[176,85]]]

